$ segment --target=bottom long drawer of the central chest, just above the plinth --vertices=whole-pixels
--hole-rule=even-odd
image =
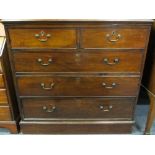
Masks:
[[[135,98],[35,98],[23,99],[24,119],[128,118]]]

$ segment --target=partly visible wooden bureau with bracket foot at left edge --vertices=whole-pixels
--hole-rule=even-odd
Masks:
[[[17,133],[18,111],[6,52],[6,38],[0,36],[0,128]]]

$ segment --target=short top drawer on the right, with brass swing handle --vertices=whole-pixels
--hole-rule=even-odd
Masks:
[[[148,29],[101,28],[83,29],[82,48],[145,48]]]

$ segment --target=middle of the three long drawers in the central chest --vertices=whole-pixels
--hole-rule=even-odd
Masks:
[[[139,78],[23,76],[17,78],[21,96],[135,96]]]

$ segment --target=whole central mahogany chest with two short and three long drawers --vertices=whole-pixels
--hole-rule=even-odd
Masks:
[[[4,21],[22,133],[130,133],[151,21]]]

